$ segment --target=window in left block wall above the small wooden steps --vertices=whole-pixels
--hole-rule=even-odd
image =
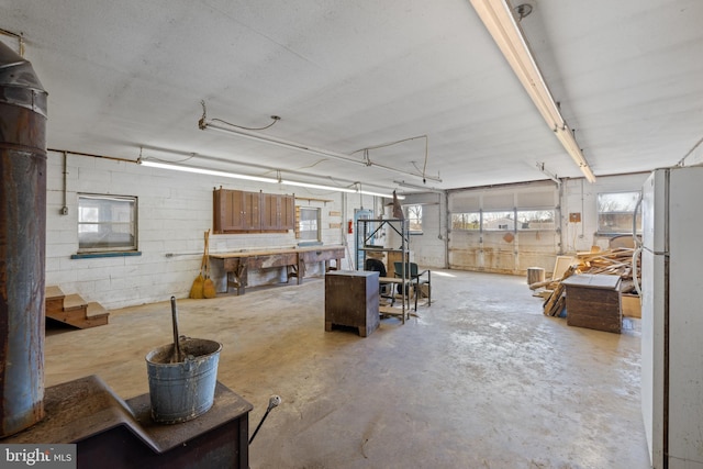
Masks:
[[[78,196],[78,253],[136,249],[136,197]]]

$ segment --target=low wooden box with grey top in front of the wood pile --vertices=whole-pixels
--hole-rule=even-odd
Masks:
[[[561,282],[567,288],[567,324],[621,333],[620,276],[582,273]]]

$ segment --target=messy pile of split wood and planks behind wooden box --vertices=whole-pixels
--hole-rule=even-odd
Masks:
[[[628,247],[616,247],[607,250],[594,250],[590,253],[578,253],[573,261],[560,278],[532,283],[531,290],[545,288],[542,294],[545,298],[544,313],[548,316],[558,316],[566,305],[566,288],[561,281],[572,275],[579,273],[603,273],[616,275],[621,277],[621,291],[623,293],[634,291],[633,280],[633,255],[635,249]],[[639,263],[638,263],[639,265]]]

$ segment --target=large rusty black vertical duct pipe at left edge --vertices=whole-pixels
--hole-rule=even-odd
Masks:
[[[46,91],[0,42],[0,438],[44,417]]]

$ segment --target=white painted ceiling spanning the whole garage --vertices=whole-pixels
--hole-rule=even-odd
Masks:
[[[676,165],[703,138],[703,1],[528,2],[522,27],[596,177]],[[359,161],[426,135],[426,161],[423,138],[368,157],[442,179],[427,187],[545,179],[537,161],[581,176],[469,0],[0,0],[0,12],[49,93],[49,148],[423,185],[201,131],[204,101],[209,119],[279,115],[263,133]]]

